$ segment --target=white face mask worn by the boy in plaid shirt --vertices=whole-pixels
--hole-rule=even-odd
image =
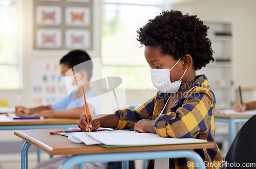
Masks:
[[[175,63],[175,65],[179,61],[180,59]],[[179,81],[170,82],[170,70],[172,70],[174,66],[170,69],[168,68],[151,69],[151,81],[159,91],[164,93],[176,93],[179,90],[181,85],[181,79],[185,75],[187,68],[184,71]]]

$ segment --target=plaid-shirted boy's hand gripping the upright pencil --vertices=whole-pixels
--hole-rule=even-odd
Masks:
[[[87,123],[86,115],[81,115],[78,127],[81,129],[82,132],[91,132],[92,130],[97,130],[100,127],[100,120],[99,118],[92,119],[91,115],[89,115],[90,123]]]

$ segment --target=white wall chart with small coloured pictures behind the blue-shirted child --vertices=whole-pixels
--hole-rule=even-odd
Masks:
[[[31,106],[50,105],[67,95],[60,67],[53,61],[33,61],[31,66]]]

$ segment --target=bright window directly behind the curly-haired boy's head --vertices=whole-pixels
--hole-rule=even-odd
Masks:
[[[162,12],[164,0],[104,0],[101,62],[106,75],[121,77],[125,89],[154,89],[137,30]]]

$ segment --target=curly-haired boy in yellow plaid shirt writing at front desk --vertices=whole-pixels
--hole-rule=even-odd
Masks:
[[[91,119],[90,124],[83,115],[79,120],[81,130],[129,128],[161,137],[214,141],[215,95],[205,75],[195,73],[214,61],[207,30],[196,16],[175,10],[150,19],[137,31],[137,40],[145,45],[144,55],[151,67],[153,85],[159,90],[157,95],[136,110],[117,110],[115,114]],[[214,149],[194,151],[207,168],[225,168],[217,144]],[[188,168],[188,161],[169,159],[169,168]],[[151,160],[148,168],[153,168],[153,163]]]

